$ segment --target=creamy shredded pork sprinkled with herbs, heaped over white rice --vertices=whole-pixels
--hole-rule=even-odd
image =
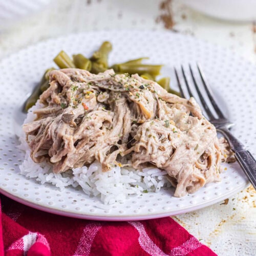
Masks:
[[[23,129],[33,161],[52,163],[54,173],[95,160],[104,172],[153,164],[167,171],[181,197],[219,181],[220,163],[230,157],[194,98],[138,75],[54,70],[40,102],[45,108]]]

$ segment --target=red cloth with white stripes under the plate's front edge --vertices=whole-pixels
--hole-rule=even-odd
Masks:
[[[0,255],[216,255],[172,218],[97,222],[1,201]]]

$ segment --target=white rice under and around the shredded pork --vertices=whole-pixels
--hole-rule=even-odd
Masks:
[[[27,115],[24,123],[34,120],[33,111],[40,108],[36,103]],[[25,140],[25,134],[20,136],[19,149],[26,152],[25,160],[19,165],[20,173],[34,178],[41,184],[51,183],[60,190],[68,186],[80,186],[85,194],[96,196],[104,204],[113,204],[124,201],[129,195],[141,195],[147,192],[159,192],[161,187],[170,187],[166,179],[166,172],[156,167],[148,167],[142,171],[131,167],[113,167],[109,172],[102,172],[101,164],[97,161],[89,167],[74,168],[68,172],[54,174],[48,163],[35,163],[30,157],[30,149]]]

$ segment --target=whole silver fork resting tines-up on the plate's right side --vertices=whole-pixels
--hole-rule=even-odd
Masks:
[[[191,78],[193,80],[194,86],[196,88],[198,97],[201,101],[201,104],[203,106],[203,110],[206,113],[206,115],[208,116],[208,120],[215,125],[216,129],[218,132],[220,132],[227,140],[227,142],[229,143],[229,146],[231,148],[231,150],[234,152],[234,156],[236,157],[238,163],[240,164],[240,166],[242,167],[242,169],[244,170],[244,173],[246,174],[246,176],[248,177],[249,181],[251,182],[251,184],[253,185],[253,187],[256,189],[256,161],[253,158],[253,156],[251,155],[251,153],[247,150],[245,150],[244,145],[236,138],[234,137],[230,132],[229,129],[232,125],[234,125],[234,123],[230,122],[222,113],[221,109],[219,108],[216,99],[214,97],[214,94],[212,93],[210,87],[208,86],[205,76],[202,72],[202,69],[200,68],[200,66],[197,64],[197,69],[203,84],[203,88],[206,92],[206,95],[209,99],[209,102],[211,103],[212,108],[215,110],[215,113],[217,115],[217,118],[214,115],[214,112],[211,111],[211,109],[209,108],[208,104],[205,101],[204,96],[202,95],[202,92],[198,86],[197,80],[195,78],[195,72],[193,72],[191,66],[189,65],[189,71],[190,71],[190,75]],[[181,96],[183,98],[185,97],[185,93],[184,90],[182,89],[182,85],[181,85],[181,80],[179,78],[178,72],[176,69],[174,69],[175,71],[175,75],[176,75],[176,79],[178,82],[178,86],[180,89],[180,93]],[[185,81],[185,85],[187,88],[187,92],[189,94],[190,97],[194,97],[193,93],[191,91],[192,86],[191,83],[189,82],[187,75],[185,73],[184,68],[181,66],[181,73],[182,76],[184,78]]]

